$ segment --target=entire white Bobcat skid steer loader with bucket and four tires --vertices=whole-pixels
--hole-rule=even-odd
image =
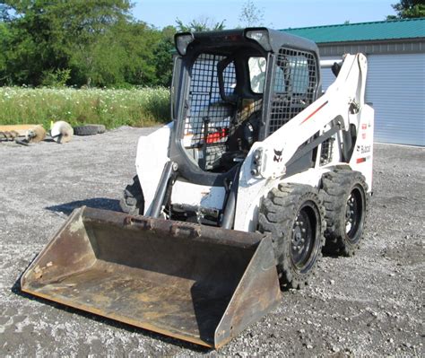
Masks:
[[[265,28],[176,48],[172,121],[140,138],[126,213],[75,210],[22,291],[217,348],[307,284],[322,249],[359,248],[374,112],[361,54],[320,62]]]

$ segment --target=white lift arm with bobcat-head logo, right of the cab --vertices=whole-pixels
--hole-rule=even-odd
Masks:
[[[364,55],[346,55],[340,73],[322,97],[263,142],[253,145],[247,158],[247,162],[251,161],[252,176],[281,177],[299,146],[326,125],[342,130],[348,130],[351,123],[358,127],[364,106],[367,66]]]

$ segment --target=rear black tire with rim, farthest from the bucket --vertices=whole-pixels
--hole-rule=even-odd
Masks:
[[[320,195],[325,205],[324,252],[352,256],[360,248],[366,227],[369,194],[365,177],[359,171],[335,169],[322,178]]]

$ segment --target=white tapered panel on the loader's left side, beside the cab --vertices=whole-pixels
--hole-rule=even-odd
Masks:
[[[156,188],[164,165],[169,161],[169,135],[173,123],[161,127],[151,135],[143,135],[137,144],[135,169],[143,189],[145,214],[149,215]]]

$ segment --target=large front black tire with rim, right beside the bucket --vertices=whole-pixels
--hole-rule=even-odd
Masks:
[[[282,288],[308,284],[325,244],[325,209],[317,190],[299,184],[273,188],[262,202],[258,229],[272,235]]]

